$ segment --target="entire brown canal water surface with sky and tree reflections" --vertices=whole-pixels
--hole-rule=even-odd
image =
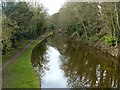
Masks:
[[[49,39],[35,47],[31,61],[41,88],[118,87],[116,60],[77,42]]]

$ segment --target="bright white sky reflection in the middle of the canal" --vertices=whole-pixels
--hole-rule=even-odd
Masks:
[[[48,46],[46,55],[49,61],[49,70],[41,80],[41,88],[64,88],[66,87],[66,78],[60,67],[60,53],[53,47]]]

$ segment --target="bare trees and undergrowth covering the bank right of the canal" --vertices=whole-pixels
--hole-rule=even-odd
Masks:
[[[70,3],[52,15],[51,24],[62,35],[118,58],[120,3]]]

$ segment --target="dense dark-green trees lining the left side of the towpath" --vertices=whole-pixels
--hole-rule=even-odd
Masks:
[[[17,48],[23,40],[44,32],[46,10],[42,4],[2,2],[2,9],[3,53]]]

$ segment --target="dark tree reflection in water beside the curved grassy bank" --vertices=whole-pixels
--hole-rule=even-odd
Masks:
[[[46,56],[47,45],[45,42],[41,42],[38,44],[31,55],[31,62],[33,67],[35,67],[35,71],[39,74],[39,76],[44,75],[44,70],[48,69],[47,67],[47,56]]]

